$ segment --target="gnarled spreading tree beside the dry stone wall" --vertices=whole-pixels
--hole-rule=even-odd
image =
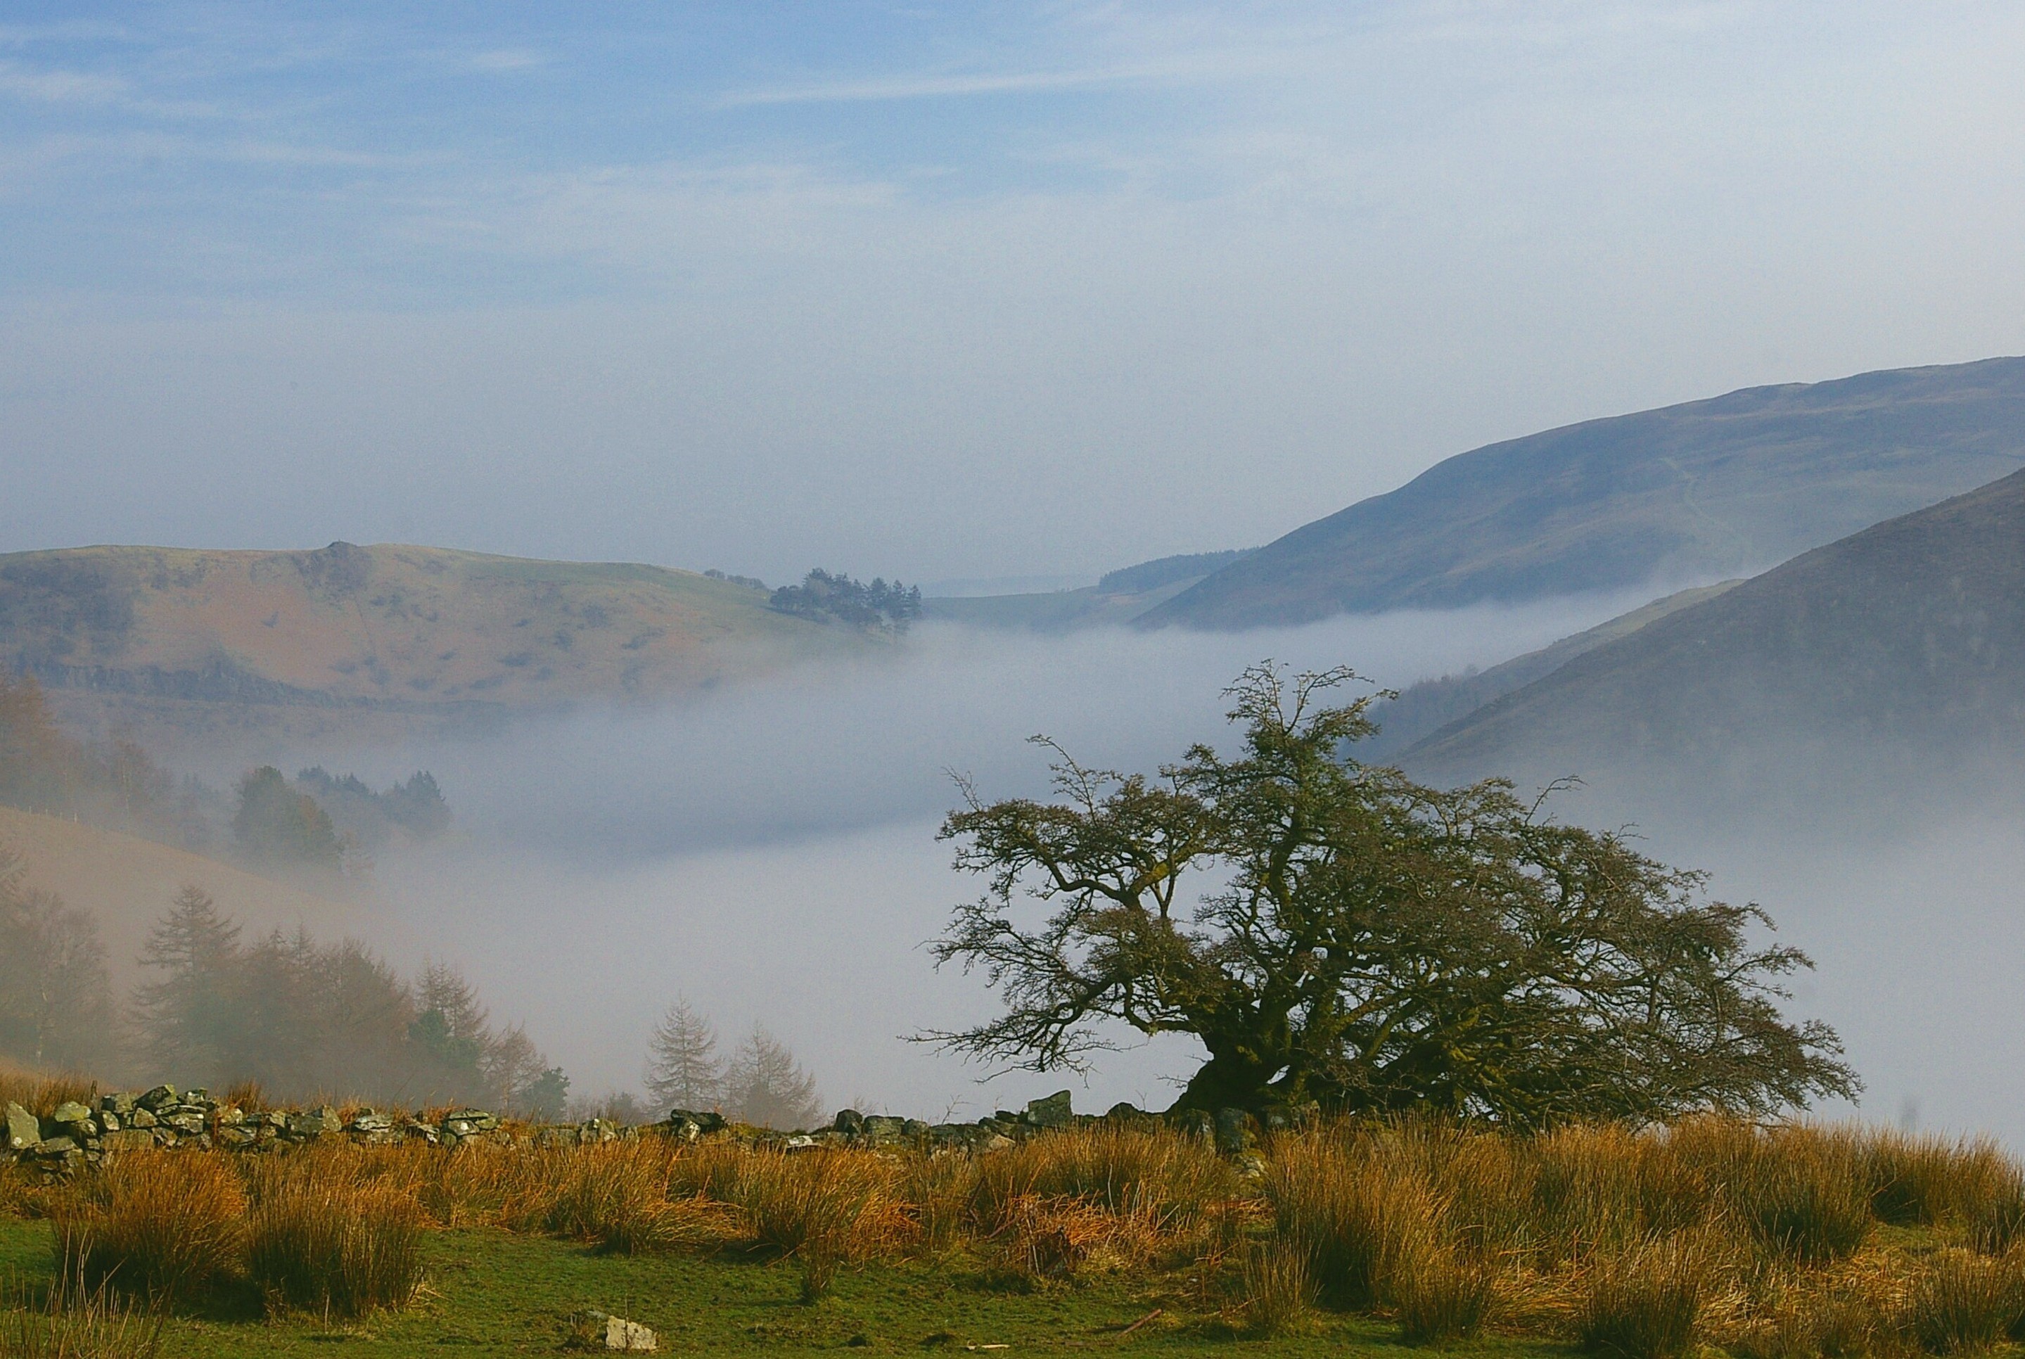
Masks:
[[[1780,1015],[1758,905],[1705,875],[1561,826],[1505,780],[1436,790],[1347,757],[1377,727],[1347,668],[1227,691],[1235,760],[1195,745],[1156,778],[1055,751],[1057,798],[982,802],[942,838],[988,881],[938,962],[1004,1013],[927,1039],[1012,1067],[1083,1069],[1102,1027],[1209,1049],[1177,1108],[1415,1106],[1537,1126],[1770,1112],[1847,1096],[1820,1023]]]

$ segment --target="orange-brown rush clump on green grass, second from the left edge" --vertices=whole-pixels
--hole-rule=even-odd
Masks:
[[[247,1266],[269,1310],[360,1316],[405,1306],[421,1286],[421,1205],[401,1185],[362,1179],[348,1150],[257,1169]]]

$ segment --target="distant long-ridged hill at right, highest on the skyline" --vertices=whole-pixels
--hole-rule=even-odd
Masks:
[[[1211,573],[1140,626],[1744,575],[2019,466],[2025,358],[1752,387],[1460,454]]]

